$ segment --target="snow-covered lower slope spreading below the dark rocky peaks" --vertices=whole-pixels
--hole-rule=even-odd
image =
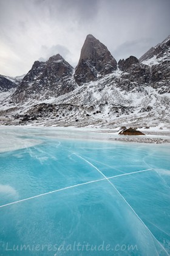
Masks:
[[[127,93],[113,82],[121,79],[117,71],[87,83],[53,102],[39,102],[26,109],[23,124],[56,126],[157,126],[169,123],[169,94],[158,94],[138,85]],[[25,122],[25,117],[27,118]]]

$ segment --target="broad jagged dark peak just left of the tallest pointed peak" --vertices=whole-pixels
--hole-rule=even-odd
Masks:
[[[75,88],[72,73],[73,67],[60,54],[50,57],[47,62],[36,61],[13,94],[13,100],[18,102],[44,94],[48,98],[68,93]]]

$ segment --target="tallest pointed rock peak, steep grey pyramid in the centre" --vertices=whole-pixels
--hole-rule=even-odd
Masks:
[[[117,62],[107,47],[92,35],[87,35],[81,49],[80,60],[75,69],[77,84],[90,82],[117,69]]]

